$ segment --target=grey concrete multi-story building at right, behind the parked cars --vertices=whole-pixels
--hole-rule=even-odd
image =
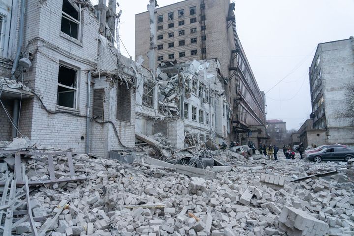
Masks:
[[[354,38],[318,44],[309,79],[314,129],[326,130],[328,144],[353,145],[354,126],[338,114],[354,81]]]

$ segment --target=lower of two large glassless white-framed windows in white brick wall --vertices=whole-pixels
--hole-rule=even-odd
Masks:
[[[76,109],[77,70],[59,64],[57,105]]]

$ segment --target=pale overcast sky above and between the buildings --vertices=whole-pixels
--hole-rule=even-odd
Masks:
[[[98,0],[91,0],[96,4]],[[181,0],[157,0],[160,7]],[[118,0],[120,37],[134,59],[135,14],[149,0]],[[354,0],[235,0],[236,26],[259,88],[267,119],[298,129],[311,113],[308,68],[321,42],[354,35]],[[148,43],[148,42],[147,42]],[[121,52],[128,56],[123,45]]]

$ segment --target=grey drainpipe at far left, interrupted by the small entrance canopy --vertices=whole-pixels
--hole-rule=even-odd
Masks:
[[[23,41],[23,31],[24,31],[24,18],[25,18],[25,0],[21,0],[21,13],[20,13],[20,26],[19,26],[19,37],[18,37],[18,42],[17,42],[17,50],[16,50],[16,56],[14,59],[14,63],[12,65],[11,69],[11,79],[15,80],[15,71],[18,66],[18,61],[20,59],[20,54],[21,54],[21,48],[22,48],[22,41]],[[12,118],[13,118],[13,126],[12,126],[12,131],[11,135],[12,138],[17,136],[17,129],[18,129],[18,115],[19,115],[19,110],[20,110],[20,103],[18,99],[14,100],[13,103],[13,113],[12,113]]]

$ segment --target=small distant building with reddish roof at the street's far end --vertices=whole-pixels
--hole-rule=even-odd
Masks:
[[[266,129],[269,136],[267,143],[283,144],[286,137],[286,122],[279,119],[268,119],[266,120]]]

